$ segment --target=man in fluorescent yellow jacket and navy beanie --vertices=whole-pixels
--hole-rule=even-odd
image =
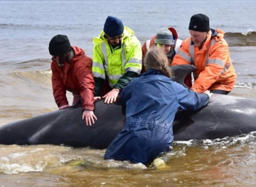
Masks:
[[[115,102],[120,90],[142,70],[142,46],[134,31],[108,16],[100,36],[93,39],[92,75],[95,100]]]

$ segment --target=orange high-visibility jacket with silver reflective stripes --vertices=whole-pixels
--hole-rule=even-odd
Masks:
[[[206,90],[231,91],[235,85],[236,73],[230,59],[228,43],[220,29],[210,29],[210,34],[200,48],[194,46],[191,38],[183,41],[171,65],[190,64],[196,66],[195,92]]]

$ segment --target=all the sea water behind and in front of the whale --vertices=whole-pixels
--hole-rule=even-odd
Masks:
[[[256,99],[255,1],[0,0],[0,5],[0,125],[58,109],[50,81],[50,38],[68,35],[91,56],[92,37],[108,15],[121,18],[144,43],[169,26],[184,39],[189,18],[207,14],[212,28],[225,31],[238,73],[230,95]],[[174,151],[162,156],[164,169],[104,161],[105,150],[0,145],[0,186],[253,186],[255,144],[253,133],[174,142]]]

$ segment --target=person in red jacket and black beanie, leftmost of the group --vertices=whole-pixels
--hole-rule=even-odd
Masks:
[[[54,36],[49,43],[52,55],[52,85],[53,96],[59,109],[68,107],[66,91],[74,95],[73,105],[82,102],[82,119],[87,125],[95,123],[97,119],[93,110],[94,80],[92,76],[92,58],[85,55],[85,50],[70,46],[68,36]]]

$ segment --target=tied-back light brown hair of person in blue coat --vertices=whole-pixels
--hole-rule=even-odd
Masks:
[[[159,70],[166,77],[171,78],[171,69],[169,60],[163,49],[153,47],[147,53],[144,59],[145,69]]]

